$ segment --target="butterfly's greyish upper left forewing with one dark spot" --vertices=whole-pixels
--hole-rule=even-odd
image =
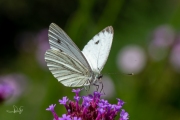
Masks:
[[[48,37],[51,49],[56,49],[66,53],[67,55],[82,63],[90,72],[92,71],[90,65],[79,48],[74,44],[71,38],[55,23],[50,24]]]

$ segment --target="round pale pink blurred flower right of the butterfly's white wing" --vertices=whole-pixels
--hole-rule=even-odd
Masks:
[[[129,45],[119,52],[117,63],[126,74],[139,73],[146,64],[146,56],[139,46]]]

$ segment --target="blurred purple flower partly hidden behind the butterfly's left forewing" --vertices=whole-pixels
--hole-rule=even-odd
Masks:
[[[37,61],[43,68],[47,68],[44,60],[44,54],[46,50],[50,48],[49,40],[48,40],[48,29],[41,30],[37,34],[36,40],[37,40],[37,53],[36,53]]]

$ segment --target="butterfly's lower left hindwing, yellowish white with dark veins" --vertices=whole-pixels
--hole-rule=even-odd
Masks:
[[[53,76],[64,86],[81,87],[90,85],[89,70],[72,56],[56,49],[45,53],[45,61]]]

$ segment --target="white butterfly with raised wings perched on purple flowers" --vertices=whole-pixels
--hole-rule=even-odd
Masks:
[[[106,63],[113,39],[113,28],[106,27],[95,35],[82,52],[56,24],[49,27],[50,48],[45,61],[55,78],[68,87],[95,85]]]

